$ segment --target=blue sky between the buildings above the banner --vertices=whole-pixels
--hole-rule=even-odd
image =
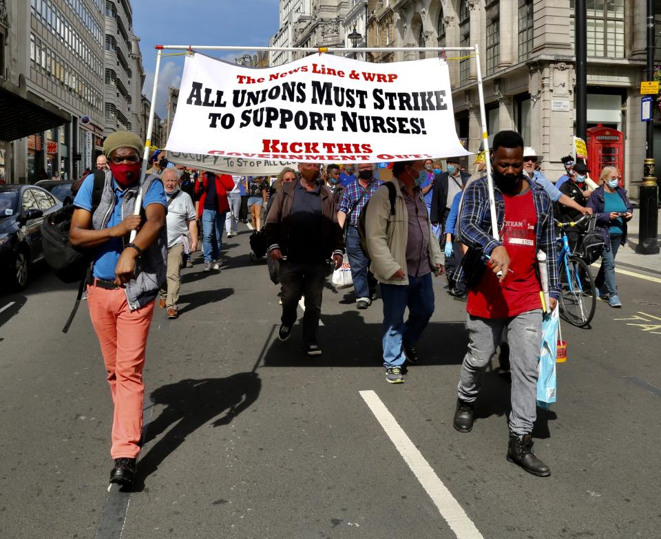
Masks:
[[[269,45],[278,28],[278,0],[132,1],[134,33],[145,67],[143,94],[151,99],[156,68],[154,45]],[[167,54],[168,51],[164,51]],[[176,51],[169,51],[176,52]],[[209,52],[233,61],[246,52]],[[163,118],[167,87],[179,87],[183,56],[164,57],[158,76],[156,113]]]

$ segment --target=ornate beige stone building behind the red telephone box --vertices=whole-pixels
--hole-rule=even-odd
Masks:
[[[645,127],[640,81],[645,63],[644,0],[594,0],[587,14],[587,127],[625,134],[625,186],[633,198],[642,177]],[[575,119],[574,0],[370,0],[368,43],[381,47],[479,45],[487,130],[516,129],[544,158],[549,179],[573,154]],[[463,54],[463,53],[461,53]],[[436,56],[425,52],[368,55],[377,62]],[[474,59],[445,55],[459,137],[481,143]],[[655,145],[661,158],[661,136]],[[472,165],[472,163],[471,163]],[[599,171],[592,171],[598,177]]]

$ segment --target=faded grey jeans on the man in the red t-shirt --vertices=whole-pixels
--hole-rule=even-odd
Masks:
[[[542,311],[529,310],[511,318],[481,318],[468,315],[468,352],[463,358],[457,394],[466,402],[474,402],[480,392],[482,374],[501,343],[503,328],[507,328],[510,344],[510,431],[515,434],[532,432],[537,419],[537,363],[542,346]]]

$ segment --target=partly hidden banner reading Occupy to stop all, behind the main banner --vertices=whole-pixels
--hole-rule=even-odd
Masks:
[[[297,165],[297,163],[292,161],[233,156],[205,156],[201,154],[185,154],[180,151],[168,151],[167,159],[176,165],[183,165],[191,169],[237,174],[238,176],[277,176],[283,167],[296,169]]]

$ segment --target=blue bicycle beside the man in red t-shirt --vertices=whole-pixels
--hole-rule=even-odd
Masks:
[[[558,239],[561,249],[556,259],[560,276],[560,316],[577,328],[585,328],[591,322],[597,299],[594,292],[594,277],[590,273],[589,266],[578,253],[571,251],[565,229],[567,226],[574,227],[591,218],[591,215],[583,215],[579,220],[567,223],[554,220],[563,231]]]

